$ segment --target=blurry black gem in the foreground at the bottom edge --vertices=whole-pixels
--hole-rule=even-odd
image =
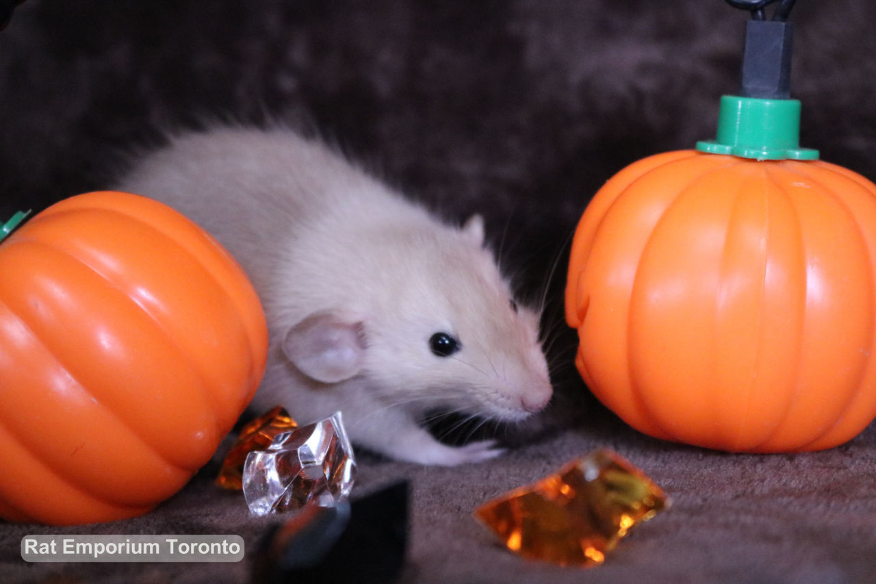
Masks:
[[[405,563],[408,484],[335,508],[305,507],[270,528],[253,582],[385,584]]]

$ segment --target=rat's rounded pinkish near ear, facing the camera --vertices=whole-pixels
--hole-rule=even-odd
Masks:
[[[365,352],[361,318],[340,310],[314,312],[283,338],[283,352],[301,373],[323,383],[345,381],[362,369]]]

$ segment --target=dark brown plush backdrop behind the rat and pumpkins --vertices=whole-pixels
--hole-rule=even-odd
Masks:
[[[450,218],[483,213],[523,295],[550,282],[555,379],[577,385],[576,222],[625,165],[714,136],[747,18],[722,0],[28,0],[0,33],[0,219],[107,188],[166,132],[303,121]],[[802,146],[876,177],[876,4],[800,0],[792,20]]]

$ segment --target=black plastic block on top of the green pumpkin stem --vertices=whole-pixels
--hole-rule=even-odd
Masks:
[[[749,20],[745,25],[742,87],[739,95],[762,99],[791,96],[794,25],[776,20]]]

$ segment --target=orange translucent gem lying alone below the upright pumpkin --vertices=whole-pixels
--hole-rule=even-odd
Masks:
[[[596,566],[632,527],[668,504],[663,490],[638,468],[615,452],[597,450],[486,502],[475,516],[521,556]]]

